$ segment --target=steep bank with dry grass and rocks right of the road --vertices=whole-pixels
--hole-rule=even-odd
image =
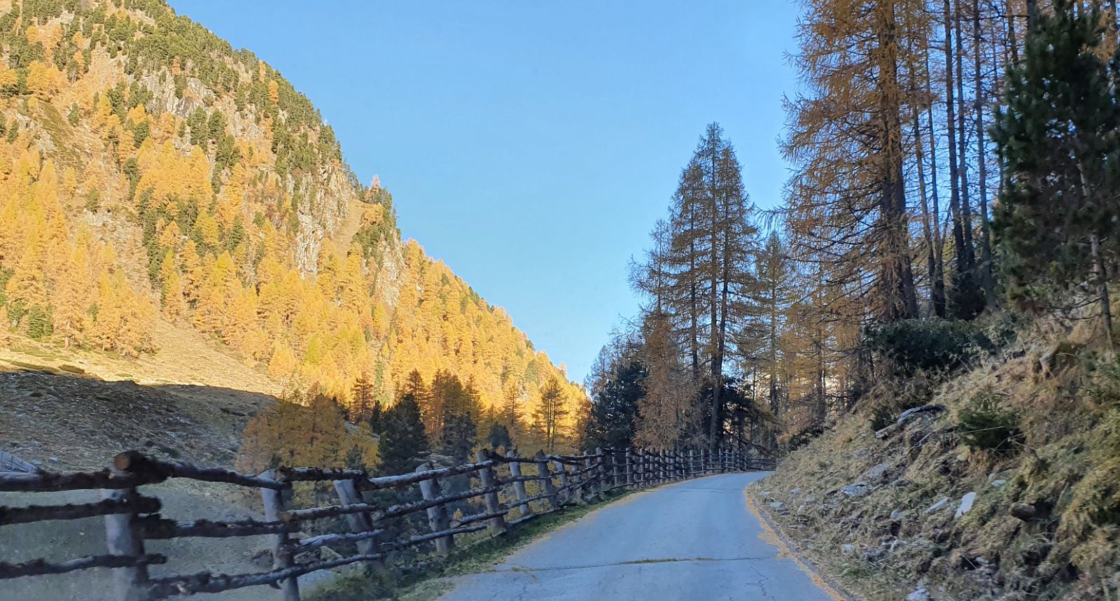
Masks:
[[[757,505],[867,599],[1114,599],[1120,366],[1084,321],[1015,329],[948,376],[880,383]]]

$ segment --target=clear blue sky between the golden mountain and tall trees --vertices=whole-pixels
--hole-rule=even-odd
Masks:
[[[627,263],[703,128],[780,200],[786,0],[171,0],[323,111],[404,237],[506,308],[582,381],[637,300]]]

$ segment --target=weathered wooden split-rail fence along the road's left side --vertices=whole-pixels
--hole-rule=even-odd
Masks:
[[[484,529],[489,529],[493,535],[503,534],[534,516],[592,500],[612,490],[637,489],[727,471],[773,468],[772,459],[748,458],[734,450],[710,453],[600,449],[581,456],[538,452],[532,458],[483,450],[476,453],[473,463],[444,468],[424,463],[416,472],[400,476],[371,477],[361,470],[320,468],[278,468],[251,476],[128,451],[116,456],[111,468],[96,472],[0,473],[0,492],[101,490],[102,494],[102,500],[95,503],[0,506],[0,526],[103,516],[106,534],[103,555],[60,562],[44,558],[22,563],[0,561],[0,580],[110,569],[114,594],[121,601],[149,601],[256,585],[278,586],[283,601],[299,601],[298,576],[319,570],[358,562],[384,565],[392,553],[426,543],[433,544],[436,553],[444,555],[455,547],[456,536]],[[441,480],[446,482],[452,477],[461,480],[465,476],[470,479],[468,489],[456,492],[440,489]],[[259,489],[264,519],[176,522],[164,517],[159,513],[159,499],[141,494],[141,487],[175,478]],[[293,482],[330,482],[338,504],[289,507]],[[528,483],[533,485],[535,494],[530,495]],[[377,506],[362,497],[364,491],[400,490],[413,485],[420,488],[422,498],[419,500]],[[476,498],[483,500],[484,510],[452,517],[451,504],[461,505],[460,501]],[[383,539],[382,535],[386,533],[384,525],[390,519],[419,511],[427,513],[430,533]],[[507,519],[513,511],[516,516]],[[345,518],[345,522],[335,522],[345,523],[345,530],[297,537],[301,524],[320,518]],[[167,557],[146,552],[146,541],[262,535],[271,537],[273,567],[267,572],[199,572],[161,577],[152,577],[148,572],[150,565],[166,564]],[[346,555],[297,561],[307,551],[338,545]]]

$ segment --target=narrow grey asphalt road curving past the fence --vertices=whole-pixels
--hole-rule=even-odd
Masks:
[[[567,525],[497,564],[455,579],[444,601],[836,601],[776,546],[746,505],[762,473],[730,473],[640,492]]]

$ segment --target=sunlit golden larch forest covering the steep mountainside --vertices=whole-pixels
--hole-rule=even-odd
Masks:
[[[170,323],[355,423],[414,375],[454,378],[477,442],[501,421],[575,445],[586,393],[401,240],[392,195],[276,69],[161,0],[2,4],[0,341],[142,358]],[[422,409],[438,440],[444,407]]]

